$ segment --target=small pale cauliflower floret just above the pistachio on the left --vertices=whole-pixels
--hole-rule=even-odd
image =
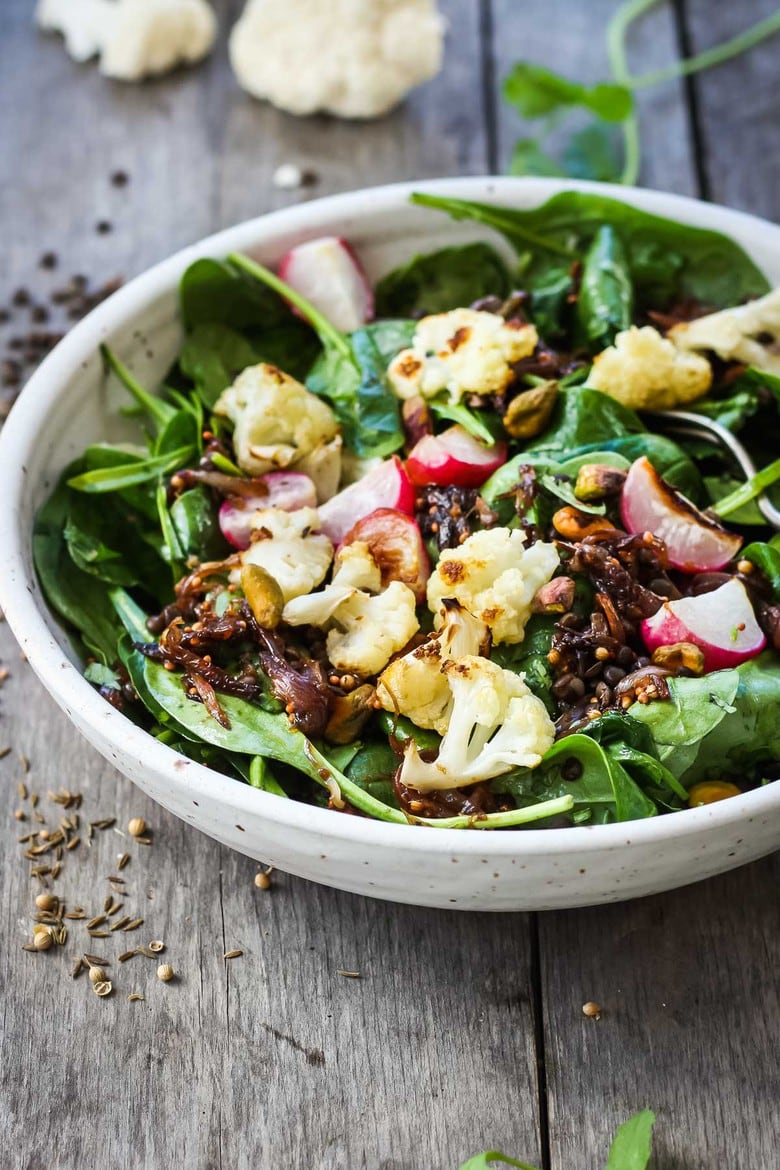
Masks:
[[[251,544],[241,553],[242,565],[260,565],[274,578],[285,601],[316,589],[327,574],[333,545],[318,532],[316,508],[283,511],[258,508],[253,516]]]

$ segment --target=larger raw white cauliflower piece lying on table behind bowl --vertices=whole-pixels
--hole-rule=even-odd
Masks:
[[[230,63],[290,113],[375,118],[439,73],[443,32],[435,0],[249,0]]]

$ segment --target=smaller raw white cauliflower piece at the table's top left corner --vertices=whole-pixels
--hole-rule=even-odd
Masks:
[[[76,61],[99,54],[101,73],[119,81],[200,61],[216,36],[206,0],[40,0],[36,20]]]

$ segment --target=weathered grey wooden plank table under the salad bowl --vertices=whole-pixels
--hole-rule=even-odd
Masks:
[[[523,128],[497,101],[518,57],[584,80],[606,71],[610,0],[449,0],[442,75],[382,122],[296,121],[234,84],[225,33],[201,68],[145,87],[102,80],[37,35],[5,0],[0,39],[0,300],[65,274],[133,275],[237,220],[327,192],[506,165]],[[767,15],[772,0],[661,6],[636,30],[643,69]],[[642,95],[648,186],[780,214],[780,44]],[[281,163],[317,176],[281,192]],[[130,176],[112,186],[112,172]],[[98,221],[112,230],[99,234]],[[37,268],[56,249],[56,273]],[[13,330],[13,323],[8,326]],[[387,906],[255,866],[145,799],[88,748],[43,693],[7,627],[0,655],[4,1168],[454,1170],[489,1147],[554,1170],[606,1157],[616,1124],[657,1110],[657,1166],[778,1165],[778,856],[631,904],[539,915]],[[30,760],[22,776],[20,753]],[[156,963],[111,965],[102,1000],[70,979],[84,948],[21,950],[33,895],[15,838],[16,783],[83,793],[82,845],[57,888],[96,914],[129,849],[132,935],[164,938]],[[29,801],[25,804],[30,815]],[[69,812],[64,813],[69,815]],[[131,815],[153,846],[88,820]],[[53,820],[54,818],[54,820]],[[223,961],[223,952],[243,955]],[[350,978],[340,971],[358,971]],[[143,1002],[129,1003],[140,991]],[[599,1021],[581,1005],[602,1005]]]

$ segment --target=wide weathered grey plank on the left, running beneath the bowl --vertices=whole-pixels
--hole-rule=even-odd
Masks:
[[[46,285],[49,277],[30,273],[50,247],[61,271],[129,276],[206,232],[296,199],[485,170],[478,12],[468,0],[446,8],[457,36],[442,77],[386,122],[363,126],[298,122],[251,102],[219,54],[153,85],[108,84],[73,66],[55,39],[35,36],[18,0],[4,29],[13,68],[0,70],[0,215],[13,239],[4,284]],[[274,190],[282,161],[310,167],[317,185]],[[109,181],[118,168],[131,176],[122,190]],[[94,232],[102,218],[113,221],[111,235]],[[493,1143],[540,1159],[525,916],[484,922],[387,907],[283,875],[262,894],[249,861],[165,814],[96,757],[20,663],[5,626],[0,658],[12,670],[0,745],[29,756],[36,789],[64,784],[83,791],[84,819],[116,814],[124,828],[143,815],[154,830],[151,849],[129,846],[123,870],[143,929],[89,945],[116,959],[160,937],[178,972],[164,985],[154,962],[113,962],[117,990],[101,1000],[84,976],[68,977],[83,923],[71,924],[65,954],[19,949],[35,887],[14,837],[29,823],[12,817],[18,756],[0,762],[0,1133],[13,1151],[4,1166],[56,1157],[63,1170],[91,1162],[450,1170]],[[91,851],[82,844],[67,855],[58,889],[97,913],[104,875],[126,844],[113,831],[98,833]],[[223,962],[233,948],[244,955]],[[143,1003],[126,1002],[134,990]],[[62,1135],[56,1154],[34,1122],[42,1101],[47,1134]]]

